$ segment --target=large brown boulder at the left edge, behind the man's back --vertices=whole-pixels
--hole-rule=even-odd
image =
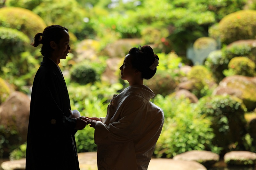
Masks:
[[[30,99],[22,92],[13,92],[9,98],[0,105],[0,131],[8,144],[4,144],[4,152],[9,155],[8,145],[20,145],[27,141]],[[16,133],[14,133],[14,131]],[[7,147],[7,148],[5,148]],[[4,153],[4,155],[6,154]]]

